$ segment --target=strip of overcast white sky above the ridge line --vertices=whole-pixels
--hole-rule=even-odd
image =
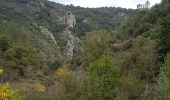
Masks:
[[[123,8],[136,8],[137,4],[143,4],[146,0],[49,0],[62,4],[73,4],[81,7],[123,7]],[[161,0],[149,0],[151,5],[159,3]]]

